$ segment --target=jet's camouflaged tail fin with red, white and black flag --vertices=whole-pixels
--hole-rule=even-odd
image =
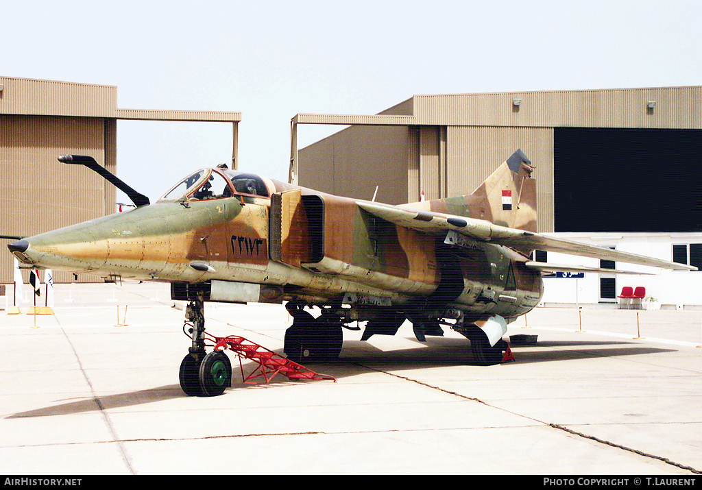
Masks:
[[[517,150],[475,192],[400,207],[436,211],[487,220],[496,225],[536,232],[536,180],[534,166]]]

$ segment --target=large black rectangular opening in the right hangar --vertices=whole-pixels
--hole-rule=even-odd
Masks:
[[[554,128],[556,232],[702,231],[702,130]]]

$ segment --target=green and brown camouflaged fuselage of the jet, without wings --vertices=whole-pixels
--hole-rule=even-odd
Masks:
[[[445,234],[389,223],[354,199],[260,180],[265,190],[258,194],[237,192],[227,180],[231,188],[218,196],[197,199],[191,193],[28,237],[27,249],[15,255],[39,267],[211,284],[213,300],[215,285],[232,284],[239,289],[228,289],[219,300],[456,307],[505,318],[541,300],[541,274],[505,246],[445,244]],[[446,204],[430,201],[417,207],[444,211],[441,206]],[[455,202],[448,206],[456,213]],[[484,212],[484,204],[479,208]]]

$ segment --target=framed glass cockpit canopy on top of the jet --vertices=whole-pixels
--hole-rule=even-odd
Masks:
[[[187,199],[225,199],[234,195],[270,197],[270,190],[262,178],[224,168],[201,168],[173,186],[159,201]]]

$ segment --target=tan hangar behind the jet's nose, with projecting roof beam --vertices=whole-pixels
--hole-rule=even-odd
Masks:
[[[115,173],[118,119],[231,123],[237,164],[240,112],[118,109],[116,86],[0,76],[0,235],[30,236],[114,213],[112,184],[57,157],[89,155]],[[2,252],[9,241],[0,239],[0,284],[13,282],[13,256]],[[57,271],[54,279],[74,277]],[[77,280],[102,281],[90,274]]]

